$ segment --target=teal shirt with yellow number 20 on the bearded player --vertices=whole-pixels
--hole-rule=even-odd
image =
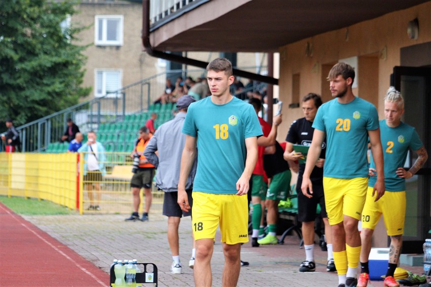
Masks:
[[[378,128],[376,108],[358,97],[348,104],[333,99],[317,110],[313,127],[326,133],[323,176],[368,177],[368,130]]]

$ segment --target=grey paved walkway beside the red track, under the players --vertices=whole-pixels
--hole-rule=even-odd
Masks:
[[[157,265],[159,286],[193,286],[193,270],[188,268],[191,255],[191,220],[183,218],[180,224],[180,257],[183,274],[171,274],[172,258],[166,238],[167,218],[159,213],[150,213],[149,222],[125,222],[126,215],[58,215],[25,216],[24,218],[65,244],[83,258],[109,272],[113,259],[138,259]],[[337,286],[335,273],[326,272],[326,252],[316,245],[316,272],[298,272],[305,258],[299,249],[296,235],[287,236],[284,245],[252,248],[243,246],[241,259],[250,262],[242,267],[238,286]],[[221,286],[223,251],[220,234],[214,245],[211,261],[213,285]],[[420,267],[405,267],[415,273]],[[109,276],[106,276],[106,285]],[[382,286],[372,282],[371,286]]]

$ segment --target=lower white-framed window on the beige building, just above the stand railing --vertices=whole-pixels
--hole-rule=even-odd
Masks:
[[[95,71],[95,97],[116,97],[116,93],[121,88],[121,70],[100,70]]]

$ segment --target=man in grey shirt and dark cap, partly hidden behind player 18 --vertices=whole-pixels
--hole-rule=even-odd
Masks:
[[[173,263],[170,267],[172,273],[181,273],[182,265],[180,262],[178,226],[182,216],[191,216],[192,211],[184,212],[177,203],[178,199],[178,180],[180,178],[180,162],[183,154],[186,135],[181,132],[184,119],[189,105],[196,102],[190,95],[183,95],[177,101],[178,114],[173,120],[162,124],[148,142],[144,151],[144,156],[155,166],[156,187],[164,191],[163,215],[167,216],[167,240],[172,253]],[[158,156],[156,155],[158,151]],[[196,173],[197,159],[195,159],[190,175],[187,178],[186,190],[189,203],[193,202],[192,188]],[[190,204],[192,206],[192,204]],[[193,233],[192,233],[193,238]],[[194,267],[195,248],[193,240],[192,257],[189,267]]]

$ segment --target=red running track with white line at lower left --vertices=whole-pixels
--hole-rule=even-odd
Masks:
[[[109,274],[0,203],[0,286],[109,286]]]

